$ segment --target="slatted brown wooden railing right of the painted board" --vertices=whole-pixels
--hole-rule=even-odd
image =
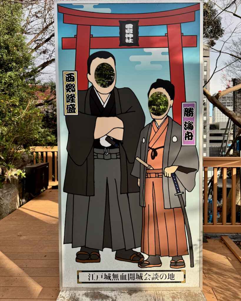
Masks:
[[[240,157],[203,157],[204,167],[204,215],[203,232],[204,233],[239,233],[241,232],[240,205],[236,204],[236,168],[241,167]],[[212,171],[210,170],[212,167]],[[231,213],[229,213],[229,222],[227,222],[227,169],[231,172]],[[208,171],[213,174],[213,178],[208,178]],[[218,211],[218,172],[222,186],[222,197],[219,204],[221,209],[220,219],[217,221]],[[208,185],[208,182],[209,185]],[[210,189],[211,185],[211,189]],[[208,192],[211,191],[211,197]],[[220,191],[221,192],[221,191]],[[210,194],[209,194],[210,195]],[[240,200],[239,200],[240,203]],[[208,206],[211,205],[211,208]],[[228,204],[229,205],[229,204]],[[237,208],[236,208],[237,206]],[[209,208],[208,208],[209,207]],[[229,208],[230,206],[228,206]],[[212,209],[212,219],[208,221],[208,210]],[[238,219],[237,220],[237,216]],[[210,219],[210,216],[209,216]]]

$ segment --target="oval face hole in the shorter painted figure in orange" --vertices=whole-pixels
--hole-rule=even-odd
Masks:
[[[161,116],[168,109],[167,96],[162,92],[153,93],[148,100],[149,111],[155,116]]]

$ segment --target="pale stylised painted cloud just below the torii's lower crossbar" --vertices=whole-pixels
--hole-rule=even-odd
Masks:
[[[162,65],[156,62],[169,61],[168,48],[144,48],[143,50],[151,54],[131,55],[129,58],[131,62],[140,62],[136,64],[136,70],[161,70]],[[164,52],[166,54],[163,54]]]

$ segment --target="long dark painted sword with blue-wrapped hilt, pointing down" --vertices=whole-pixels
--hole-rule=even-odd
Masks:
[[[183,196],[182,196],[183,192],[180,191],[175,173],[172,173],[171,177],[173,179],[173,183],[174,183],[176,191],[177,191],[177,193],[175,195],[178,196],[179,201],[180,201],[180,205],[181,205],[181,208],[182,208],[182,211],[183,211],[183,217],[184,217],[184,222],[185,222],[185,225],[186,225],[186,232],[187,232],[187,238],[188,238],[188,244],[189,244],[190,267],[193,268],[194,267],[194,260],[193,260],[192,236],[191,236],[189,222],[188,222],[188,218],[187,218],[187,214],[186,214],[186,208],[185,208],[184,200],[183,200]]]

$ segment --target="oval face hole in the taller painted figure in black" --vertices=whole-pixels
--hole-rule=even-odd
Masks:
[[[101,63],[95,69],[95,81],[102,88],[107,88],[114,82],[115,72],[110,64]]]

